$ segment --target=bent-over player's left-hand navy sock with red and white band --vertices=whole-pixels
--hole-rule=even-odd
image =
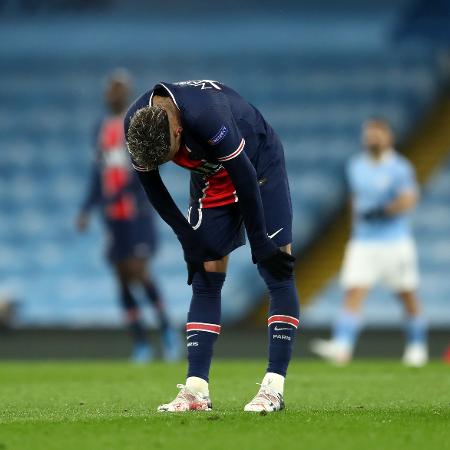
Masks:
[[[208,381],[214,342],[220,334],[220,300],[225,273],[196,273],[186,325],[188,377]]]

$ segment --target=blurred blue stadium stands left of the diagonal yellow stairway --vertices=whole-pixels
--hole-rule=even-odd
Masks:
[[[114,67],[132,71],[136,94],[159,80],[219,79],[261,109],[285,145],[296,251],[344,201],[343,167],[359,150],[361,120],[385,114],[407,133],[441,79],[427,45],[393,45],[402,1],[370,10],[354,9],[357,2],[338,10],[333,2],[276,10],[249,2],[239,12],[180,3],[170,20],[140,2],[104,2],[77,14],[53,2],[32,12],[9,3],[0,19],[0,290],[19,299],[22,326],[121,323],[100,224],[87,236],[73,228],[104,76]],[[168,165],[163,177],[185,211],[188,174]],[[170,230],[159,229],[152,268],[182,324],[190,299],[182,254]],[[263,290],[249,249],[239,249],[224,321],[247,314]],[[147,318],[153,322],[151,312]]]

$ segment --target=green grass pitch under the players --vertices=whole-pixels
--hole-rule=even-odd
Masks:
[[[448,449],[450,367],[295,361],[286,410],[242,411],[264,361],[215,361],[214,411],[161,414],[184,364],[0,363],[0,450]]]

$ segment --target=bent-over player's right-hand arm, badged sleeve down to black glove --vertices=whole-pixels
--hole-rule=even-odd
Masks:
[[[245,139],[226,107],[207,109],[195,121],[199,138],[227,170],[236,189],[253,260],[277,278],[289,276],[294,258],[268,238],[255,168],[245,153]]]

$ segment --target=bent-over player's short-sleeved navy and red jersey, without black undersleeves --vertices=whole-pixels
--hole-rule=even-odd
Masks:
[[[180,111],[182,146],[173,162],[192,172],[192,206],[198,203],[199,208],[214,208],[238,201],[223,163],[242,151],[258,176],[280,157],[279,146],[273,145],[278,138],[261,113],[217,81],[158,83],[131,106],[125,131],[135,112],[150,105],[154,94],[170,96]]]

